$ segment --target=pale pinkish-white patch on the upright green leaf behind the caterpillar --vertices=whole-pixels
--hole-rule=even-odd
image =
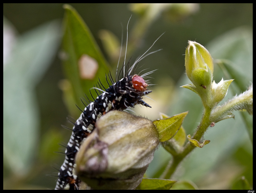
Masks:
[[[82,79],[89,79],[89,80],[94,79],[97,73],[97,70],[99,68],[98,62],[94,58],[88,56],[87,54],[83,54],[80,57],[78,61],[78,66],[79,66],[80,77]]]

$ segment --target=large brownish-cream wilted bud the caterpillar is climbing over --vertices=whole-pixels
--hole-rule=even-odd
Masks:
[[[93,189],[136,188],[159,144],[152,121],[110,111],[96,122],[76,156],[80,179]]]

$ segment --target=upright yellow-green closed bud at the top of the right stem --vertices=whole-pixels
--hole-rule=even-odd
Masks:
[[[195,41],[188,41],[185,55],[187,77],[196,86],[207,88],[212,81],[213,60],[205,47]]]

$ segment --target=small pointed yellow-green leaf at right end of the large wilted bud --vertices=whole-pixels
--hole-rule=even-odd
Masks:
[[[187,113],[188,111],[174,115],[173,117],[167,119],[158,119],[153,121],[157,128],[160,142],[165,142],[176,134],[176,132],[180,129]]]

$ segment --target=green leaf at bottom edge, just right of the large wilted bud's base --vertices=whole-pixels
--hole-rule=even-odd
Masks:
[[[137,190],[169,190],[177,180],[143,178]]]

